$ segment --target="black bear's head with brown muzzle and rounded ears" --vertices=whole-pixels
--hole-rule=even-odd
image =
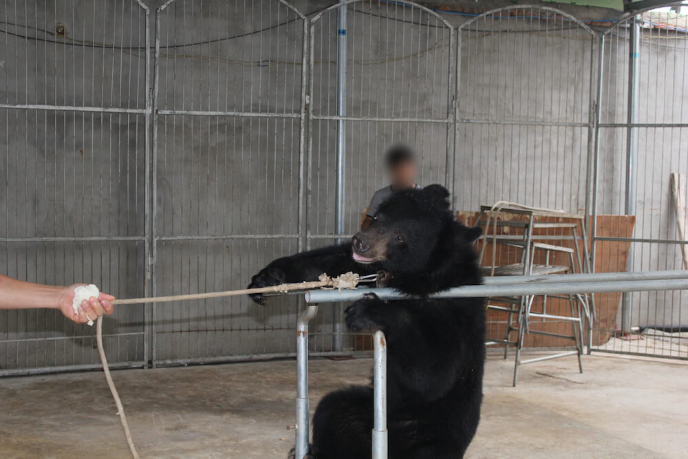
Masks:
[[[388,286],[412,295],[480,284],[473,242],[482,231],[456,222],[447,198],[437,184],[391,195],[352,238],[354,261],[377,264]]]

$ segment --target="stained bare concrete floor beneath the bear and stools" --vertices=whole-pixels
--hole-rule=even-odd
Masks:
[[[371,361],[315,359],[312,406]],[[688,365],[586,356],[521,368],[488,357],[468,458],[686,458]],[[142,458],[284,458],[294,361],[114,372]],[[101,373],[0,379],[0,458],[127,458]]]

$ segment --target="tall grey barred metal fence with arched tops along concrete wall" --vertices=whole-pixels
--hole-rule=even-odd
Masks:
[[[369,0],[54,8],[0,6],[0,266],[12,277],[118,297],[242,288],[275,257],[350,237],[396,142],[418,149],[420,182],[447,185],[458,211],[507,199],[584,212],[598,260],[632,247],[630,268],[680,268],[668,185],[688,161],[678,23],[643,17],[630,118],[632,18],[603,30],[541,6],[472,16]],[[624,213],[634,233],[603,218]],[[625,322],[596,326],[596,349],[667,354],[612,335],[678,329],[681,300],[629,295]],[[126,366],[290,356],[301,306],[122,307],[105,347]],[[360,345],[341,308],[311,330],[312,352]],[[92,330],[0,312],[0,374],[97,362]]]

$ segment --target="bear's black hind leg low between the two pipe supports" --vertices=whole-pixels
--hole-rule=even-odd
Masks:
[[[327,394],[313,416],[312,454],[318,459],[371,456],[372,387],[352,386]]]

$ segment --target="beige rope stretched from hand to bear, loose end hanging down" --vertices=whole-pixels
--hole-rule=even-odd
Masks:
[[[292,290],[310,290],[312,288],[356,288],[358,282],[369,281],[371,276],[359,276],[355,273],[345,273],[338,277],[330,277],[327,274],[321,274],[317,281],[312,282],[297,282],[294,284],[280,284],[279,286],[261,287],[261,288],[244,288],[241,290],[226,290],[224,292],[207,292],[207,293],[192,293],[191,295],[171,295],[169,297],[153,297],[153,298],[129,298],[116,299],[111,301],[113,304],[140,304],[140,303],[163,303],[166,301],[183,301],[188,299],[206,299],[206,298],[220,298],[220,297],[235,297],[238,295],[252,295],[255,293],[286,293]],[[122,406],[120,396],[117,393],[115,383],[112,381],[110,369],[107,366],[107,359],[105,358],[105,350],[103,349],[103,316],[98,317],[96,325],[96,342],[98,343],[98,354],[100,354],[100,362],[103,363],[103,372],[105,372],[105,380],[107,386],[110,388],[112,398],[115,399],[117,405],[117,414],[120,416],[120,423],[122,423],[122,430],[125,431],[125,438],[127,445],[131,452],[133,459],[139,459],[136,447],[133,445],[131,439],[131,431],[129,431],[129,424],[127,423],[127,416],[125,415],[125,408]]]

